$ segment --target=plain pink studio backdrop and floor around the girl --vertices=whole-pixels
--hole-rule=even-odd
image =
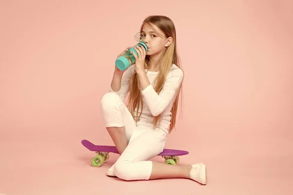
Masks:
[[[292,194],[292,7],[292,0],[1,1],[0,193]],[[190,152],[182,164],[204,162],[206,186],[107,177],[118,155],[93,168],[95,154],[80,142],[113,144],[100,100],[117,55],[152,14],[175,23],[185,71],[183,112],[167,148]]]

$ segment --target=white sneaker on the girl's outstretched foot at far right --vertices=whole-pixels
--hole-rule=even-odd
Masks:
[[[198,163],[191,165],[192,169],[189,173],[190,179],[193,179],[194,181],[197,181],[198,183],[207,184],[207,169],[206,165],[203,163]]]

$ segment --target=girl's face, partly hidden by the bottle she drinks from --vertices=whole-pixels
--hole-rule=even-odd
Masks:
[[[156,55],[162,54],[166,47],[169,46],[172,42],[172,38],[167,38],[163,31],[161,31],[157,26],[152,25],[153,28],[145,23],[142,29],[142,34],[146,37],[147,52],[146,55]]]

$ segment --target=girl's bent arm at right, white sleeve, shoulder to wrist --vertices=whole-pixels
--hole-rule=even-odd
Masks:
[[[161,114],[167,108],[175,97],[184,77],[183,71],[180,68],[171,70],[167,75],[161,92],[158,94],[150,85],[146,72],[141,71],[138,75],[142,86],[142,94],[153,116]]]

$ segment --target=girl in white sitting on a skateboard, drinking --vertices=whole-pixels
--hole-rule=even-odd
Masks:
[[[175,26],[169,18],[147,17],[140,32],[146,37],[147,52],[136,46],[135,65],[125,71],[115,66],[110,92],[101,101],[105,127],[120,153],[106,174],[124,180],[181,177],[205,185],[202,163],[174,166],[148,160],[163,152],[175,126],[184,74],[178,62]]]

